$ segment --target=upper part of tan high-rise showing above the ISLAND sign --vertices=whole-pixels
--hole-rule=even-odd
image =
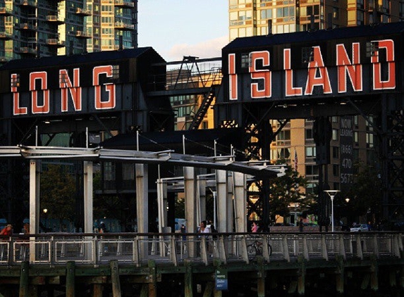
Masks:
[[[399,0],[229,0],[230,40],[400,20],[404,3]]]

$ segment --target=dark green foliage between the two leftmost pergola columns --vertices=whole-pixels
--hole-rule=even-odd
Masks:
[[[66,171],[66,166],[49,164],[41,174],[41,210],[46,208],[49,218],[75,217],[75,179]]]

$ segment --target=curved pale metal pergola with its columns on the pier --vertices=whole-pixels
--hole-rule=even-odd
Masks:
[[[137,198],[137,226],[138,231],[149,232],[148,225],[148,173],[147,165],[173,163],[183,166],[183,184],[185,189],[185,217],[187,220],[188,232],[196,232],[198,225],[197,212],[197,177],[194,168],[209,168],[216,170],[216,189],[218,192],[218,215],[217,228],[221,232],[233,231],[233,220],[238,220],[236,224],[237,232],[247,232],[247,221],[245,215],[245,180],[246,175],[255,177],[278,177],[284,175],[284,166],[268,165],[259,162],[238,162],[233,156],[203,157],[173,153],[172,151],[146,152],[133,150],[111,150],[106,148],[63,148],[49,146],[20,146],[20,147],[0,147],[0,158],[26,158],[30,160],[30,233],[39,233],[39,182],[40,170],[37,161],[46,159],[80,160],[83,162],[84,180],[84,232],[93,232],[92,217],[92,172],[93,162],[118,161],[135,163],[136,171],[136,198]],[[228,195],[228,175],[232,172],[231,182],[233,182],[233,193]],[[161,186],[161,179],[157,181]],[[230,183],[230,182],[229,182]],[[167,209],[163,196],[166,191],[162,188],[159,191],[159,226],[160,231],[166,227]],[[234,201],[233,201],[234,198]],[[237,215],[235,216],[230,206],[235,205]],[[198,217],[199,218],[199,217]],[[231,222],[229,224],[229,222]]]

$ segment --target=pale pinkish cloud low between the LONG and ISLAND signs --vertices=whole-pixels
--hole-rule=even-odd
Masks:
[[[228,44],[228,37],[218,37],[197,44],[175,44],[163,53],[166,61],[182,61],[183,56],[197,56],[199,58],[221,57],[221,49]]]

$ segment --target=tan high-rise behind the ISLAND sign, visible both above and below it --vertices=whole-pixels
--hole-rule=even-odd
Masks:
[[[398,0],[229,0],[229,39],[322,30],[336,27],[391,23],[404,20],[404,2]],[[269,22],[271,20],[271,22]],[[270,30],[270,32],[269,32]],[[353,122],[353,158],[374,165],[377,147],[370,122],[361,116]],[[373,121],[373,117],[368,120]],[[341,158],[341,118],[330,119],[330,165],[326,172],[329,187],[341,189],[346,177]],[[276,131],[280,126],[271,120]],[[297,163],[298,171],[309,180],[307,191],[314,191],[319,179],[314,142],[314,119],[293,119],[271,143],[271,160],[286,159]]]

